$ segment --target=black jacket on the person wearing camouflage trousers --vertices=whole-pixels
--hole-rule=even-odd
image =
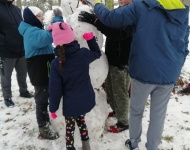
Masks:
[[[128,66],[133,27],[115,29],[105,26],[99,19],[94,26],[106,36],[105,54],[109,65],[123,69]]]

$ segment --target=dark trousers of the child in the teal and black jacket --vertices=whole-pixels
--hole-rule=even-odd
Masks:
[[[36,102],[36,118],[39,127],[43,127],[49,122],[48,114],[48,86],[34,86]]]

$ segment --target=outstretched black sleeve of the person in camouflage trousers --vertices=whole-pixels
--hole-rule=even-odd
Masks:
[[[132,26],[127,26],[122,29],[110,28],[110,27],[105,26],[103,23],[101,23],[99,19],[97,19],[94,26],[100,32],[102,32],[107,38],[110,38],[111,40],[114,40],[114,41],[128,39],[133,34]]]

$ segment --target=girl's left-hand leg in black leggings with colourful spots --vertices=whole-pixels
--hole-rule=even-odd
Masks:
[[[65,122],[66,122],[67,150],[75,150],[75,147],[74,147],[75,118],[65,117]]]

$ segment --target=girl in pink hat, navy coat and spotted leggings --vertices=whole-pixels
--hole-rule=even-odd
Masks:
[[[49,80],[49,110],[51,117],[57,117],[63,96],[63,115],[66,122],[66,147],[75,150],[74,130],[77,123],[82,149],[90,150],[85,114],[95,106],[95,93],[90,82],[89,64],[100,58],[101,52],[92,32],[85,33],[90,51],[80,48],[75,41],[74,32],[67,23],[57,22],[48,27],[52,30],[53,41],[58,50],[58,57],[51,63]]]

